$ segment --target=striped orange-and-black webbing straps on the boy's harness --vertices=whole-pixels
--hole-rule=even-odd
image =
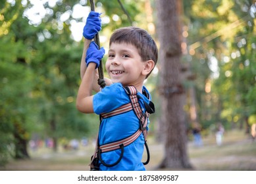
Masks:
[[[144,141],[145,141],[145,145],[146,145],[146,140],[147,140],[146,139],[147,138],[147,118],[149,116],[149,113],[148,112],[145,112],[145,113],[142,112],[141,107],[140,107],[140,103],[138,101],[136,87],[127,86],[124,89],[126,90],[126,93],[128,93],[128,95],[130,96],[131,103],[124,104],[124,105],[120,106],[119,108],[116,108],[115,110],[113,110],[111,112],[101,114],[101,120],[103,120],[103,118],[109,118],[111,116],[116,116],[118,114],[122,114],[122,113],[128,112],[130,110],[134,110],[136,116],[140,120],[140,127],[134,134],[130,135],[129,137],[126,137],[125,139],[115,141],[113,143],[108,143],[108,144],[105,144],[105,145],[101,145],[101,146],[99,146],[98,143],[96,143],[95,151],[94,151],[94,154],[91,158],[91,164],[90,164],[91,168],[95,167],[95,166],[93,166],[93,162],[94,162],[95,159],[100,157],[99,154],[101,154],[102,152],[109,152],[111,150],[123,149],[123,147],[126,147],[126,146],[130,145],[138,137],[140,137],[141,133],[143,133]],[[147,147],[147,145],[146,145],[146,147]],[[113,166],[115,164],[109,164],[109,165]]]

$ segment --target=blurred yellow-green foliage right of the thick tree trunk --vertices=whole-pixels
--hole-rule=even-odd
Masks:
[[[256,104],[255,4],[230,0],[183,3],[200,122],[209,122],[204,127],[246,122]],[[205,93],[207,81],[211,82],[210,93]]]

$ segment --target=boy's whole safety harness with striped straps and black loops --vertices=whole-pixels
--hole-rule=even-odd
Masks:
[[[148,120],[149,114],[152,114],[155,112],[155,106],[151,101],[149,101],[149,104],[147,104],[147,103],[145,103],[145,101],[143,101],[143,103],[145,105],[145,112],[143,112],[141,110],[140,103],[139,103],[139,99],[141,97],[139,95],[137,95],[136,87],[134,87],[132,85],[126,86],[126,87],[124,87],[124,90],[130,97],[130,103],[124,104],[111,112],[101,114],[100,120],[102,121],[104,118],[109,118],[112,116],[116,116],[118,114],[122,114],[124,112],[128,112],[130,110],[134,110],[138,120],[140,121],[140,127],[134,134],[130,135],[129,137],[115,141],[113,143],[107,143],[105,145],[99,145],[99,135],[98,135],[97,143],[95,145],[95,151],[94,151],[93,156],[91,156],[91,163],[90,163],[91,170],[94,170],[94,171],[99,170],[99,161],[101,162],[101,164],[103,164],[104,166],[107,166],[107,167],[113,167],[116,164],[118,164],[124,154],[124,147],[133,143],[141,135],[141,133],[143,133],[144,145],[147,150],[147,160],[146,160],[146,162],[143,162],[143,164],[146,165],[149,163],[150,156],[149,156],[149,149],[147,147],[147,120]],[[143,91],[143,95],[145,95],[149,99],[149,95],[146,91]],[[100,122],[100,124],[101,124],[101,122]],[[121,154],[115,163],[107,164],[102,160],[101,153],[109,152],[109,151],[117,150],[117,149],[121,149]]]

